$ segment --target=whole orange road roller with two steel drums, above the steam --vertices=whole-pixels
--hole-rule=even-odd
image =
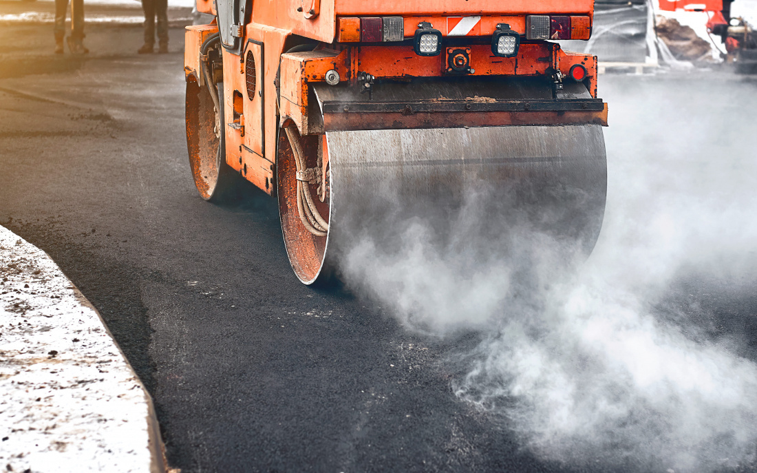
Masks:
[[[279,199],[294,274],[329,273],[356,221],[453,215],[475,189],[589,253],[606,197],[593,0],[197,0],[189,163],[207,201]],[[507,196],[505,198],[504,196]],[[555,216],[559,207],[559,216]],[[450,226],[453,226],[450,223]]]

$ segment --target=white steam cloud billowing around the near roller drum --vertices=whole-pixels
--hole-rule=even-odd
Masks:
[[[679,283],[736,300],[755,292],[757,138],[753,118],[724,105],[754,97],[753,84],[731,82],[714,109],[696,80],[607,82],[608,201],[588,260],[517,216],[482,229],[500,196],[479,182],[444,216],[449,238],[431,212],[391,222],[392,244],[354,229],[341,272],[410,330],[480,332],[475,350],[450,356],[463,366],[456,396],[545,459],[639,471],[749,464],[757,363]]]

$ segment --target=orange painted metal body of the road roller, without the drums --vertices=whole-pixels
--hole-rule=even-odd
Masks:
[[[269,194],[276,192],[276,148],[279,126],[289,120],[302,135],[328,129],[382,127],[456,127],[510,124],[597,123],[606,125],[603,110],[543,111],[500,110],[484,113],[472,107],[455,114],[407,114],[388,110],[359,117],[332,114],[311,120],[317,110],[313,87],[326,81],[326,73],[338,72],[342,82],[357,83],[358,73],[375,79],[444,77],[447,54],[420,56],[413,45],[338,42],[338,27],[345,17],[403,17],[404,37],[412,39],[421,22],[431,23],[445,38],[469,52],[468,76],[568,76],[575,64],[587,71],[585,83],[597,98],[597,58],[562,51],[557,43],[523,39],[515,58],[491,51],[497,25],[525,35],[526,17],[533,14],[581,15],[593,18],[593,0],[247,0],[249,12],[238,36],[239,54],[223,51],[223,100],[226,163]],[[214,2],[198,0],[198,10],[216,14]],[[459,35],[455,25],[472,18],[469,30]],[[185,34],[185,75],[201,82],[201,45],[218,32],[209,25],[188,26]],[[466,44],[466,39],[470,39]],[[287,53],[293,46],[319,43],[315,51]],[[475,105],[475,103],[473,104]]]

